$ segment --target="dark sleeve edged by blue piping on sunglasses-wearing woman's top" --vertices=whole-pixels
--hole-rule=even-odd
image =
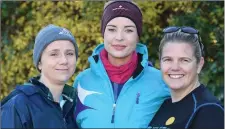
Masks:
[[[224,109],[210,105],[202,107],[193,118],[191,129],[223,129]]]

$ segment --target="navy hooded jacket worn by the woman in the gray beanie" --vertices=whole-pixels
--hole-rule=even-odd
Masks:
[[[49,89],[32,78],[17,86],[1,105],[1,128],[76,128],[73,118],[75,89],[64,86],[62,103],[53,101]],[[60,106],[61,105],[61,106]]]

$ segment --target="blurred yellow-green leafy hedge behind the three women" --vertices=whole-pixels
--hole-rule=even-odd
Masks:
[[[76,75],[89,66],[92,50],[103,42],[100,33],[105,1],[2,1],[1,2],[1,95],[38,75],[32,49],[38,31],[56,24],[73,33],[79,47]],[[224,1],[136,1],[143,13],[143,35],[149,61],[159,68],[158,46],[167,26],[192,26],[200,31],[205,65],[201,83],[224,101]]]

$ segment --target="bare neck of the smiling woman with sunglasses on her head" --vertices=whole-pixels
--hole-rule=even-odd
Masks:
[[[190,92],[192,92],[195,88],[197,88],[200,85],[198,79],[196,79],[195,83],[192,85],[189,85],[185,89],[179,89],[179,90],[171,90],[171,98],[172,102],[178,102],[182,100],[185,96],[187,96]]]

